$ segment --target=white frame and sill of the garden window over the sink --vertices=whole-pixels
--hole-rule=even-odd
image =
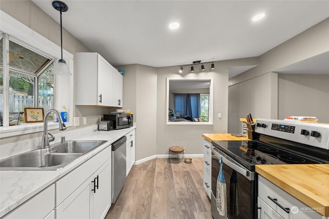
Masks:
[[[20,23],[15,18],[11,17],[10,15],[6,14],[1,10],[0,15],[0,42],[2,42],[2,47],[8,51],[8,55],[3,57],[3,50],[0,50],[0,65],[2,66],[0,68],[0,90],[3,90],[3,93],[5,94],[4,99],[0,99],[0,107],[2,107],[4,115],[4,126],[0,127],[0,138],[43,131],[42,123],[29,123],[20,126],[9,126],[9,73],[12,74],[12,72],[32,76],[33,78],[38,77],[38,81],[34,81],[34,103],[38,103],[40,107],[45,107],[45,102],[41,103],[39,97],[42,96],[42,94],[46,94],[47,98],[52,98],[53,96],[52,108],[60,109],[62,106],[65,106],[68,114],[68,122],[65,125],[66,127],[73,126],[74,55],[63,49],[63,59],[65,59],[66,64],[68,65],[72,75],[53,75],[53,85],[51,85],[51,83],[45,81],[48,79],[45,79],[44,77],[47,77],[46,75],[52,68],[51,62],[53,62],[53,57],[55,57],[56,59],[61,57],[61,47],[49,41],[49,39],[45,36],[42,36],[38,32],[35,32],[34,30]],[[21,71],[22,69],[19,68],[19,65],[15,66],[14,64],[12,64],[12,69],[9,70],[9,64],[8,66],[6,65],[6,61],[9,60],[9,40],[19,45],[18,47],[21,46],[34,52],[35,54],[34,56],[31,56],[31,58],[43,57],[46,59],[41,59],[42,62],[38,62],[39,68],[32,66],[31,68],[27,69],[28,72]],[[47,59],[50,59],[50,61],[47,62]],[[56,65],[56,62],[57,60],[53,62],[53,65]],[[44,65],[41,63],[43,63]],[[33,74],[33,72],[35,72],[35,74]],[[58,123],[53,123],[49,121],[48,130],[51,129],[58,129]]]

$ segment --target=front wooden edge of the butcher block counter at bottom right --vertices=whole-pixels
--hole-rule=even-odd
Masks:
[[[325,200],[324,198],[317,196],[316,194],[312,192],[303,193],[301,190],[304,190],[302,187],[295,184],[293,181],[286,180],[286,182],[283,182],[279,178],[273,176],[272,174],[268,173],[267,171],[261,169],[257,165],[255,166],[255,171],[262,175],[264,178],[266,178],[271,183],[275,184],[279,188],[283,189],[290,195],[296,197],[299,201],[303,202],[305,205],[313,208],[316,210],[319,214],[322,216],[329,216],[329,203],[328,200]],[[314,198],[310,196],[317,196],[318,200],[314,200]],[[323,211],[319,211],[318,209],[321,208]]]

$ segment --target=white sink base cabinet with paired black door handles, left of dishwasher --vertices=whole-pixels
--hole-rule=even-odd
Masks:
[[[56,182],[56,218],[105,217],[111,207],[111,154],[107,147]]]

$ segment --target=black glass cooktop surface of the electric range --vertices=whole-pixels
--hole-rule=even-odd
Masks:
[[[321,159],[259,141],[213,141],[212,144],[251,171],[254,170],[254,165],[261,164],[324,163]]]

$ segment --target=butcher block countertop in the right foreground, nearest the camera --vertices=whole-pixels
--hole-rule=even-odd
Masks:
[[[255,170],[321,215],[329,216],[329,164],[256,165]]]

